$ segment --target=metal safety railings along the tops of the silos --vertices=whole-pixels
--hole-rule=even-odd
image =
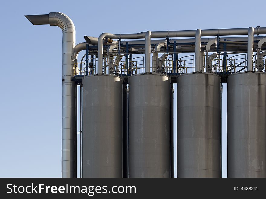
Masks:
[[[221,55],[222,56],[222,55]],[[254,61],[254,71],[266,71],[266,57],[263,55],[255,54]],[[180,57],[177,60],[176,71],[174,71],[174,62],[173,57],[152,57],[153,61],[151,64],[151,72],[152,73],[191,73],[195,72],[194,65],[194,55],[187,55],[184,57]],[[97,68],[97,58],[94,57],[92,59],[84,60],[83,62],[74,63],[73,72],[74,75],[90,75],[98,73],[96,71]],[[204,55],[201,59],[201,71],[203,72],[211,72],[211,73],[221,73],[223,72],[223,59],[220,58],[220,55],[217,56],[208,56]],[[232,57],[229,57],[226,60],[227,66],[226,71],[230,73],[235,73],[239,71],[246,71],[247,69],[247,54],[236,54]],[[112,68],[109,65],[112,64]],[[145,72],[144,66],[144,57],[134,57],[131,60],[128,60],[128,68],[126,67],[127,61],[111,58],[109,63],[109,58],[104,57],[102,59],[102,71],[105,74],[139,74]]]

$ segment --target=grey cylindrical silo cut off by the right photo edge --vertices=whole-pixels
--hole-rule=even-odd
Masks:
[[[227,85],[227,175],[266,178],[266,74],[235,73]]]

